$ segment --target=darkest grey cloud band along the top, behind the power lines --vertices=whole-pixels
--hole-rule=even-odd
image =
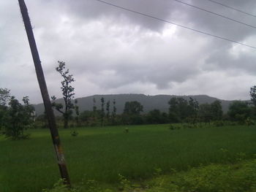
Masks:
[[[211,15],[203,10],[195,9],[187,5],[181,4],[173,0],[131,0],[131,1],[115,1],[108,0],[107,2],[117,4],[121,7],[133,9],[138,12],[143,12],[148,15],[153,15],[157,18],[164,20],[170,20],[179,24],[190,25],[202,31],[208,31],[211,33],[219,34],[220,36],[229,37],[234,40],[243,40],[244,37],[254,34],[253,28],[249,26],[241,26],[240,23],[221,18],[216,15]],[[203,9],[208,9],[211,12],[217,12],[220,15],[225,15],[229,18],[234,18],[244,23],[248,23],[252,26],[256,26],[255,18],[243,13],[236,12],[227,7],[222,7],[217,4],[213,4],[206,0],[186,1],[188,4],[193,4]],[[248,12],[255,12],[255,1],[223,1],[223,4],[230,4],[233,7],[240,7],[240,9],[247,10]],[[165,23],[159,22],[151,18],[146,18],[142,15],[137,15],[133,12],[127,12],[117,7],[111,7],[108,4],[102,4],[99,1],[87,0],[87,1],[61,1],[61,7],[72,15],[75,15],[84,20],[97,20],[99,18],[112,18],[115,22],[124,22],[124,25],[132,23],[139,25],[143,28],[149,28],[154,31],[161,31]],[[125,20],[127,19],[127,20]]]

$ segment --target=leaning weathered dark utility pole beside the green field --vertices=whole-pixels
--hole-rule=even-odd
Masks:
[[[50,128],[50,134],[53,139],[53,146],[57,155],[59,171],[61,172],[61,178],[64,180],[64,184],[70,186],[69,174],[67,172],[67,166],[64,159],[64,153],[61,147],[61,141],[59,138],[59,131],[56,128],[56,120],[54,117],[53,109],[50,103],[50,97],[48,94],[48,88],[45,82],[45,76],[42,71],[42,65],[39,58],[39,53],[37,51],[37,44],[34,39],[34,33],[31,27],[31,22],[29,19],[28,9],[26,8],[26,4],[24,0],[18,0],[20,5],[20,12],[23,18],[24,26],[26,28],[26,34],[29,39],[29,46],[31,49],[32,57],[34,60],[34,67],[37,73],[37,80],[39,83],[39,88],[42,94],[42,100],[45,104],[45,112],[48,118],[48,124]]]

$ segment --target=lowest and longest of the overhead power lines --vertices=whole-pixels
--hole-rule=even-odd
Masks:
[[[157,18],[157,17],[154,17],[154,16],[152,16],[152,15],[148,15],[148,14],[145,14],[145,13],[142,13],[142,12],[137,12],[137,11],[132,10],[132,9],[127,9],[127,8],[125,8],[125,7],[121,7],[121,6],[118,6],[118,5],[116,5],[116,4],[111,4],[111,3],[106,2],[106,1],[102,1],[102,0],[94,0],[94,1],[99,1],[99,2],[102,2],[103,4],[108,4],[108,5],[112,6],[112,7],[117,7],[118,9],[124,9],[124,10],[126,10],[126,11],[128,11],[128,12],[134,12],[134,13],[136,13],[136,14],[138,14],[138,15],[143,15],[143,16],[145,16],[145,17],[152,18],[152,19],[154,19],[154,20],[159,20],[159,21],[162,21],[162,22],[165,22],[165,23],[170,23],[170,24],[175,25],[175,26],[179,26],[179,27],[182,27],[182,28],[187,28],[187,29],[189,29],[189,30],[191,30],[191,31],[195,31],[195,32],[200,33],[200,34],[206,34],[206,35],[211,36],[211,37],[215,37],[215,38],[218,38],[218,39],[222,39],[222,40],[225,40],[225,41],[228,41],[228,42],[234,42],[234,43],[239,44],[239,45],[244,45],[244,46],[246,46],[246,47],[251,47],[251,48],[253,48],[253,49],[256,49],[256,47],[254,47],[254,46],[252,46],[252,45],[246,45],[246,44],[244,44],[244,43],[242,43],[242,42],[236,42],[236,41],[234,41],[234,40],[232,40],[232,39],[227,39],[227,38],[225,38],[225,37],[220,37],[220,36],[217,36],[217,35],[214,35],[214,34],[209,34],[208,32],[200,31],[200,30],[197,30],[197,29],[195,29],[195,28],[189,28],[189,27],[187,27],[187,26],[183,26],[183,25],[180,25],[180,24],[177,24],[177,23],[173,23],[173,22],[168,21],[168,20],[164,20],[164,19],[161,19],[161,18]]]

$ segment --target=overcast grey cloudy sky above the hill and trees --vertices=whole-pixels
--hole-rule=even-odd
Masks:
[[[105,0],[256,47],[256,28],[173,0]],[[256,26],[256,18],[208,0],[182,0]],[[216,0],[256,15],[255,0]],[[95,0],[26,0],[50,96],[65,61],[76,97],[110,93],[207,94],[249,99],[256,49],[111,7]],[[0,88],[42,101],[18,1],[0,1]]]

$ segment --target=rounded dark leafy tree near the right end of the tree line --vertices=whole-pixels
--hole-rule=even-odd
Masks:
[[[246,118],[250,117],[251,112],[252,110],[247,102],[233,101],[233,103],[230,104],[227,114],[230,116],[231,120],[237,120],[244,123]]]

